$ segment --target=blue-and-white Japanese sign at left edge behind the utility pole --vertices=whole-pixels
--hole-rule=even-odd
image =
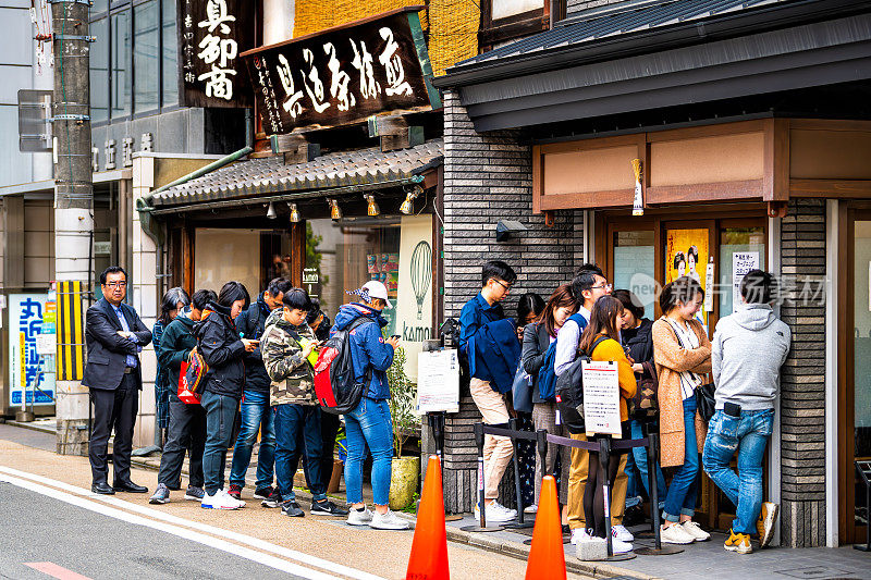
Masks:
[[[37,336],[42,330],[45,294],[11,294],[9,297],[9,404],[52,405],[54,375],[44,373],[37,353]],[[35,388],[39,386],[45,393]]]

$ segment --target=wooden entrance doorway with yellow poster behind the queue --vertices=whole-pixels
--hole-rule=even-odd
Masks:
[[[597,215],[596,232],[596,256],[605,275],[615,288],[638,297],[646,318],[662,316],[658,298],[665,284],[683,275],[696,279],[706,292],[699,321],[711,337],[716,321],[739,300],[744,273],[768,267],[768,220],[761,207],[653,210],[643,218],[603,212]],[[704,473],[701,480],[697,520],[727,530],[735,506]],[[764,482],[768,493],[768,461]]]

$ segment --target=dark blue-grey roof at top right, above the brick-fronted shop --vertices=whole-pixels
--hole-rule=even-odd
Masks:
[[[758,7],[777,4],[786,0],[630,0],[616,5],[591,9],[573,15],[551,30],[511,42],[458,62],[449,75],[465,66],[489,63],[500,59],[525,57],[538,52],[560,50],[600,39],[613,38],[641,30],[666,27],[719,16]]]

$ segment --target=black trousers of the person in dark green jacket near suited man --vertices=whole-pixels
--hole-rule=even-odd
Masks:
[[[181,488],[184,452],[191,458],[189,483],[203,488],[203,451],[206,448],[206,409],[201,405],[188,405],[170,393],[170,428],[163,456],[160,458],[158,483],[170,490]]]

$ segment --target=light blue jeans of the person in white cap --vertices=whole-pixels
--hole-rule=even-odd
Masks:
[[[363,503],[363,459],[366,446],[372,453],[372,495],[375,504],[388,505],[390,471],[393,459],[393,420],[387,400],[360,399],[359,405],[345,415],[347,434],[347,461],[345,461],[345,489],[348,504]]]

